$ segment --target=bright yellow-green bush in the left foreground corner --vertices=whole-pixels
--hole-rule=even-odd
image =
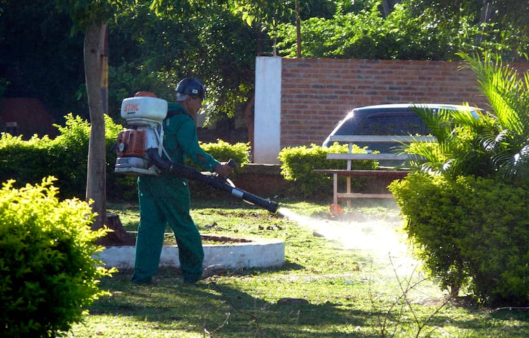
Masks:
[[[53,178],[0,190],[1,337],[56,337],[80,322],[113,271],[93,258],[105,230],[86,202],[59,202]]]

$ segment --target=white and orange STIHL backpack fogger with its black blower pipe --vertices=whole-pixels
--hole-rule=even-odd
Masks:
[[[202,173],[192,167],[173,162],[164,149],[164,119],[167,116],[167,101],[150,93],[137,93],[122,101],[121,117],[127,128],[117,136],[115,162],[116,173],[128,175],[175,175],[189,180],[204,182],[215,189],[231,193],[250,204],[255,204],[271,213],[278,210],[276,202],[236,188],[234,184],[218,175]],[[234,160],[228,165],[236,167]]]

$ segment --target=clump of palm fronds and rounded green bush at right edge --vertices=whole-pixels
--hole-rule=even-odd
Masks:
[[[527,304],[529,75],[487,54],[462,56],[493,111],[416,108],[437,142],[403,145],[417,173],[390,190],[442,287],[468,286],[482,302]]]

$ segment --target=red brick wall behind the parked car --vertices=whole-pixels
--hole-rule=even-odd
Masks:
[[[488,109],[474,73],[459,62],[282,59],[281,148],[321,145],[352,108],[444,103]],[[515,64],[520,71],[529,64]]]

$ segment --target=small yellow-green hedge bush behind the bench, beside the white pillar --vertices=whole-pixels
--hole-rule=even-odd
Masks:
[[[347,153],[348,145],[335,143],[330,147],[283,148],[278,159],[281,162],[281,174],[285,180],[296,182],[296,191],[300,197],[328,197],[333,193],[333,178],[330,175],[314,173],[314,169],[346,169],[345,160],[327,160],[328,153]],[[352,145],[353,154],[365,153],[365,148]],[[376,169],[378,162],[372,160],[352,161],[352,169]],[[360,186],[365,180],[352,178],[351,186]]]

